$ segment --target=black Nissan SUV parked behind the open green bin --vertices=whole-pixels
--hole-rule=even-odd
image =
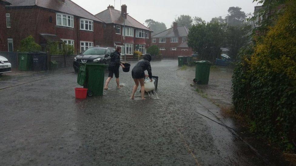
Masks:
[[[74,58],[73,67],[78,72],[81,63],[103,63],[109,64],[110,55],[115,51],[112,47],[93,47],[85,50],[81,55]]]

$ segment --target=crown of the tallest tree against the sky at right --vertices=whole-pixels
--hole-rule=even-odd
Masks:
[[[240,7],[230,7],[228,9],[228,25],[229,26],[241,26],[243,21],[247,18],[244,11],[241,11]],[[225,17],[227,21],[227,17]]]

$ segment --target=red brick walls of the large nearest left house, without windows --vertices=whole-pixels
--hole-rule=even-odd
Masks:
[[[104,23],[94,21],[94,31],[84,31],[79,30],[79,17],[74,17],[74,28],[69,28],[56,26],[56,12],[54,11],[38,7],[7,7],[6,9],[7,13],[11,13],[12,28],[8,30],[8,37],[13,38],[15,51],[19,48],[20,41],[29,35],[32,35],[35,41],[40,44],[40,34],[56,34],[60,39],[74,40],[74,48],[77,52],[80,50],[80,41],[94,42],[94,46],[106,45],[104,44]],[[50,17],[52,22],[49,21]]]

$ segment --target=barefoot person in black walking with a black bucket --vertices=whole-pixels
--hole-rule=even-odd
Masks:
[[[119,86],[119,66],[124,68],[123,64],[121,64],[121,62],[120,62],[120,52],[121,52],[121,47],[116,47],[116,51],[110,55],[111,59],[110,59],[110,63],[108,66],[109,76],[106,80],[104,90],[108,90],[108,84],[109,84],[110,80],[113,78],[113,74],[115,75],[115,78],[116,78],[117,88],[120,88],[120,86]]]

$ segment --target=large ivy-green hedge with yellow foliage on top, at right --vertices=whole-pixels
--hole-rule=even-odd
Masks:
[[[232,83],[234,111],[245,115],[251,132],[286,151],[296,141],[296,0],[256,46],[241,49]]]

